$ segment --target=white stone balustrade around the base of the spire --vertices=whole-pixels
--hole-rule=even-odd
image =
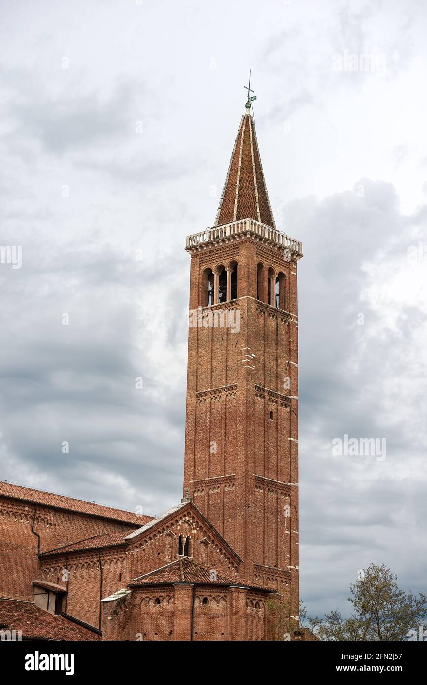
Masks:
[[[229,236],[246,232],[255,233],[258,236],[275,242],[276,245],[282,245],[292,252],[302,255],[302,242],[295,240],[295,238],[289,238],[285,233],[277,231],[275,228],[272,228],[265,223],[259,223],[259,221],[255,221],[254,219],[232,221],[231,223],[224,223],[221,226],[207,228],[205,231],[200,231],[200,233],[194,233],[192,236],[187,236],[187,244],[185,247],[198,247],[198,245],[203,245],[203,243],[210,242],[211,240],[228,238]]]

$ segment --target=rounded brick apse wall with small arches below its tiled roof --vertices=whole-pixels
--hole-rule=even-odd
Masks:
[[[103,603],[103,640],[283,640],[280,612],[279,595],[259,590],[188,583],[135,588]]]

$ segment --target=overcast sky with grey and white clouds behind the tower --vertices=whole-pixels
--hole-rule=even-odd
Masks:
[[[0,245],[22,247],[0,264],[0,479],[179,501],[183,247],[213,224],[251,68],[276,225],[305,252],[301,597],[347,611],[373,561],[426,590],[426,19],[423,0],[0,3]],[[345,434],[385,459],[334,456]]]

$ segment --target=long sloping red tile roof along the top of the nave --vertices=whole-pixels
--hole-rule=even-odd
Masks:
[[[21,485],[5,483],[3,481],[0,481],[0,496],[1,495],[3,495],[3,497],[13,497],[14,499],[21,499],[27,502],[44,504],[57,509],[67,509],[82,514],[91,514],[92,516],[99,516],[102,519],[114,519],[114,521],[133,523],[138,526],[144,525],[144,523],[148,523],[148,521],[153,519],[153,516],[142,516],[124,509],[115,509],[114,507],[107,507],[103,504],[97,504],[96,502],[88,502],[84,499],[74,499],[74,497],[66,497],[65,495],[55,495],[55,493],[47,493],[44,490],[25,488]]]

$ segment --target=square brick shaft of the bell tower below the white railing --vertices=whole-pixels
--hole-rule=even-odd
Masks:
[[[252,238],[196,252],[190,310],[205,269],[232,260],[237,300],[207,310],[238,308],[240,332],[189,328],[184,488],[243,558],[241,575],[292,597],[298,615],[297,262]],[[284,310],[266,302],[269,269],[283,274]]]

